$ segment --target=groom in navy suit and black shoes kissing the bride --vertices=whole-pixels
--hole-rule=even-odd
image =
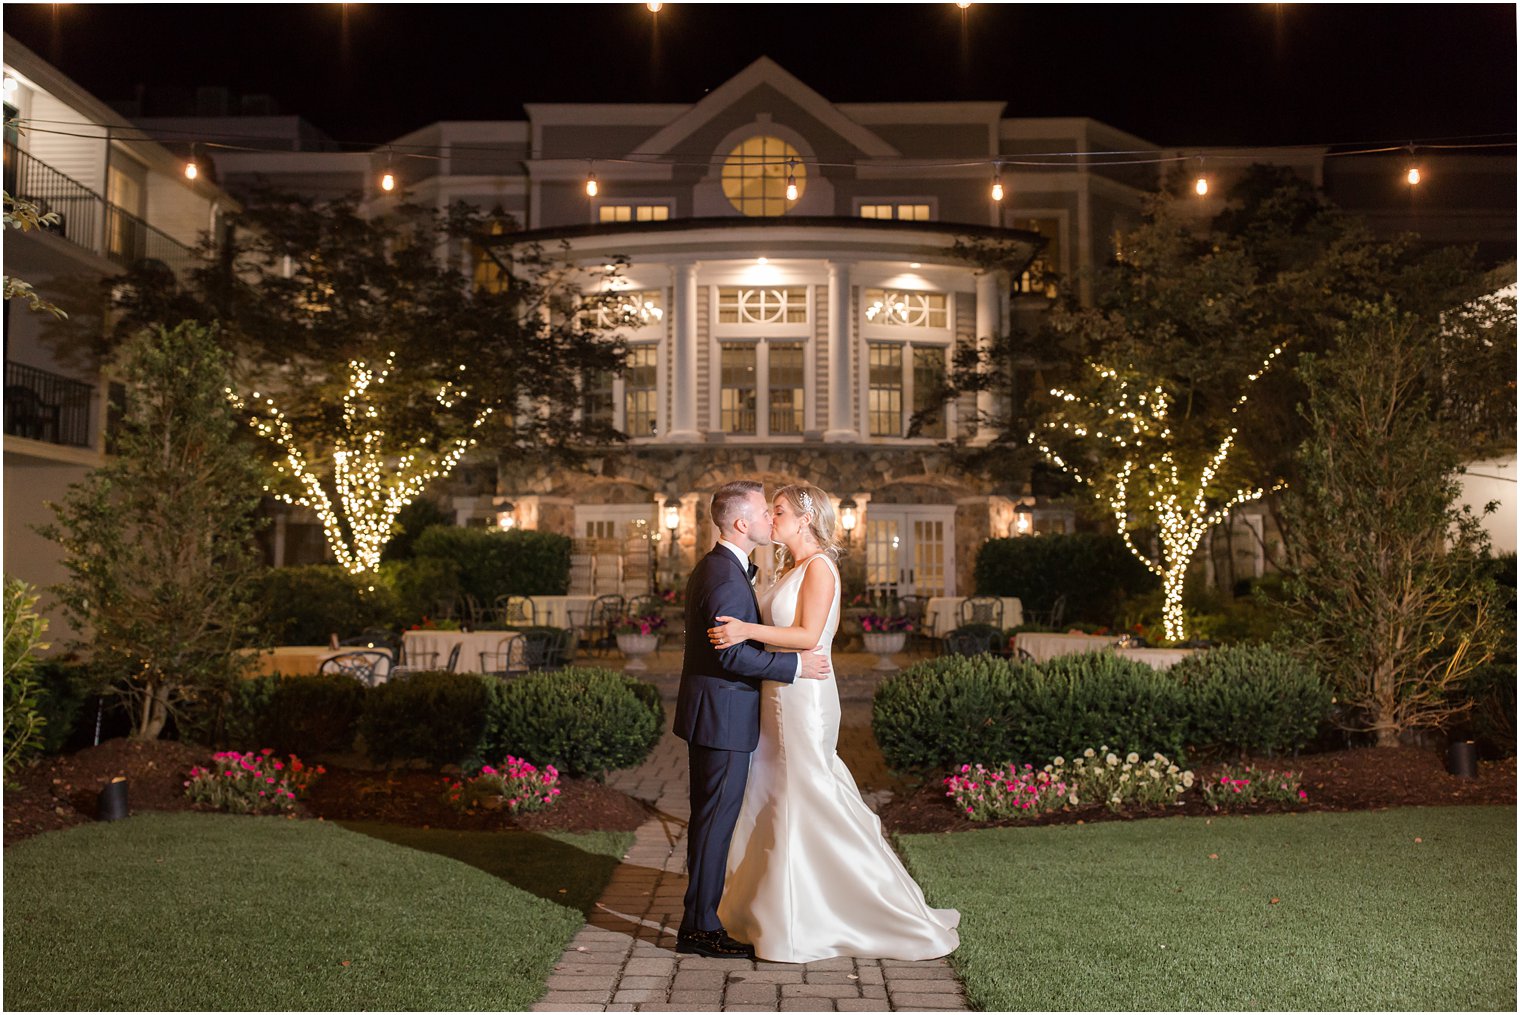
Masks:
[[[707,637],[717,617],[760,621],[755,565],[749,552],[771,545],[765,486],[740,480],[713,494],[717,545],[698,561],[686,583],[686,658],[675,707],[675,735],[687,741],[692,819],[687,824],[686,913],[675,950],[713,959],[752,959],[717,919],[728,842],[749,778],[749,752],[760,743],[760,681],[825,679],[828,658],[815,652],[766,652],[743,641],[714,649]]]

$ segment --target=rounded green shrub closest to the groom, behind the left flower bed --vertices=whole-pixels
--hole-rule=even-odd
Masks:
[[[664,731],[658,690],[616,670],[530,673],[496,684],[491,697],[486,754],[511,752],[567,775],[632,767]]]

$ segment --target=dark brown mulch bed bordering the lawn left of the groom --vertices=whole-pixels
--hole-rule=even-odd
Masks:
[[[211,752],[172,740],[106,740],[76,754],[43,758],[5,790],[5,845],[38,833],[94,821],[96,796],[117,775],[128,778],[131,813],[198,810],[184,795],[185,773]],[[649,807],[591,779],[561,778],[553,807],[532,814],[458,813],[441,799],[436,770],[362,770],[325,766],[301,804],[302,817],[374,821],[464,831],[632,831]]]

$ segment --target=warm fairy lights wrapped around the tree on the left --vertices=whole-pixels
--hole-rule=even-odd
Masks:
[[[231,389],[226,395],[248,410],[254,430],[280,448],[274,468],[298,486],[299,492],[269,491],[275,500],[310,508],[322,521],[327,544],[339,565],[350,574],[372,573],[380,567],[380,550],[395,532],[395,518],[436,479],[448,476],[465,453],[476,445],[477,432],[491,415],[480,409],[464,436],[444,439],[436,448],[426,436],[397,448],[386,433],[378,389],[391,377],[395,353],[375,369],[363,360],[348,362],[348,389],[342,397],[342,422],[331,435],[333,447],[324,468],[309,454],[290,418],[268,395],[254,392],[252,407]],[[464,372],[461,365],[459,372]],[[454,410],[468,391],[445,381],[433,394],[444,413]],[[315,444],[315,441],[312,442]],[[331,491],[331,492],[330,492]]]

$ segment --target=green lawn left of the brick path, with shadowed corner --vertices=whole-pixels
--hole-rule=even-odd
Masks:
[[[5,1007],[523,1010],[631,842],[193,813],[38,836],[5,851]]]

